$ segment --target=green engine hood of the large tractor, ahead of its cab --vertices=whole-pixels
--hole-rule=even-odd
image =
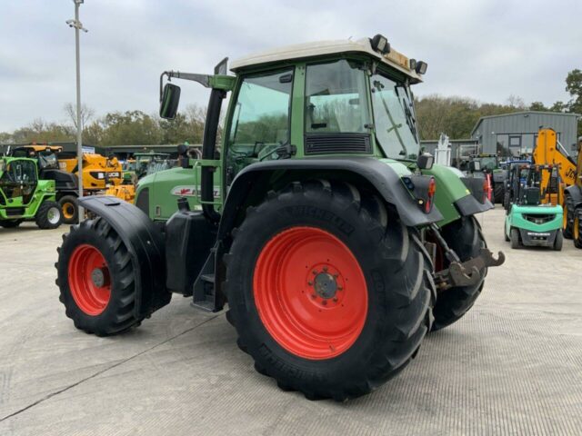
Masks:
[[[176,167],[146,175],[137,183],[135,198],[144,189],[149,189],[149,216],[156,221],[166,221],[177,211],[177,200],[184,197],[190,209],[201,209],[200,169],[202,166],[215,168],[215,204],[218,212],[222,204],[220,180],[222,172],[219,160],[191,160],[191,168]]]

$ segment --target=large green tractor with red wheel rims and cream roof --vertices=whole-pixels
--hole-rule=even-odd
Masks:
[[[474,216],[493,206],[481,181],[419,154],[410,86],[426,63],[386,37],[294,45],[231,71],[225,59],[215,74],[162,74],[167,119],[180,88],[165,77],[211,90],[202,158],[156,173],[199,180],[189,200],[201,210],[178,197],[178,211],[154,223],[150,208],[167,195],[156,183],[135,205],[81,199],[93,218],[72,227],[56,264],[66,315],[110,335],[172,293],[208,312],[227,303],[238,346],[282,389],[365,394],[402,370],[427,332],[461,318],[487,267],[504,262]]]

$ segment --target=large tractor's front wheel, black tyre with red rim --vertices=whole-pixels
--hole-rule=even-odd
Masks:
[[[97,217],[72,226],[63,238],[56,284],[75,327],[105,336],[138,324],[134,265],[115,230]]]

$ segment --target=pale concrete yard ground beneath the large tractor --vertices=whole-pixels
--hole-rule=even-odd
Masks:
[[[61,233],[0,229],[0,435],[580,434],[582,251],[507,253],[474,309],[396,379],[346,403],[279,391],[224,313],[175,297],[112,338],[75,330],[55,286]]]

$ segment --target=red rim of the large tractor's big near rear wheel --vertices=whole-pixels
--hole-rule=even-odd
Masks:
[[[366,279],[356,256],[316,227],[292,227],[266,243],[253,292],[266,330],[287,352],[306,359],[346,352],[366,322]]]

